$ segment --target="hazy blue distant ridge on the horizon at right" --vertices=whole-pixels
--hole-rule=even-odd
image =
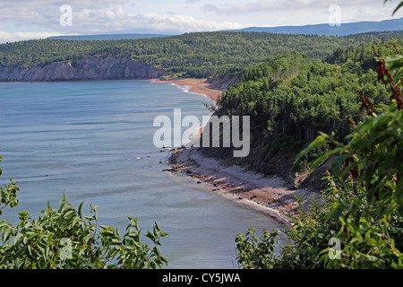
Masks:
[[[321,36],[347,36],[358,33],[373,31],[394,31],[403,30],[403,18],[384,20],[381,22],[354,22],[345,23],[340,26],[330,26],[329,24],[316,24],[305,26],[280,26],[280,27],[250,27],[232,31],[254,31],[281,34],[302,34]]]

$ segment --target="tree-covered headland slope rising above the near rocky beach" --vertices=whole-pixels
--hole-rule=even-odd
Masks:
[[[393,55],[396,49],[403,51],[403,40],[339,48],[327,62],[288,52],[248,68],[241,81],[219,100],[216,115],[250,116],[250,155],[236,160],[231,157],[231,148],[203,152],[252,170],[295,179],[295,172],[301,173],[326,152],[326,147],[318,148],[294,163],[296,154],[318,132],[334,133],[343,143],[352,131],[351,120],[359,123],[364,119],[360,94],[373,102],[377,113],[390,105],[390,91],[377,81],[373,47],[381,55]],[[317,175],[316,184],[321,183],[322,172],[318,170]]]

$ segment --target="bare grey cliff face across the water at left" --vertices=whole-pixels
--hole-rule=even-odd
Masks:
[[[123,57],[82,59],[30,69],[0,66],[0,82],[155,79],[164,74],[167,71]]]

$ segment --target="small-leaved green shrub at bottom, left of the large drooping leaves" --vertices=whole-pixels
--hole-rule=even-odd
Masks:
[[[290,228],[284,229],[291,242],[279,244],[279,230],[263,232],[260,238],[248,230],[246,236],[236,235],[238,263],[243,268],[253,269],[313,269],[323,268],[320,253],[328,248],[331,238],[335,237],[339,224],[329,220],[330,206],[336,200],[339,189],[333,178],[326,177],[328,187],[322,196],[313,201],[306,210],[299,207],[298,216],[292,217]],[[276,253],[277,250],[277,253]]]

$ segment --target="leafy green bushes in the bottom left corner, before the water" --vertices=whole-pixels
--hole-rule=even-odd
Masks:
[[[15,183],[1,188],[1,209],[18,204]],[[38,219],[19,213],[13,226],[0,221],[0,269],[144,269],[161,268],[167,259],[159,251],[167,233],[157,223],[145,235],[153,243],[141,243],[137,218],[129,217],[124,236],[112,226],[99,225],[98,207],[82,213],[64,196],[59,209],[48,204]]]

